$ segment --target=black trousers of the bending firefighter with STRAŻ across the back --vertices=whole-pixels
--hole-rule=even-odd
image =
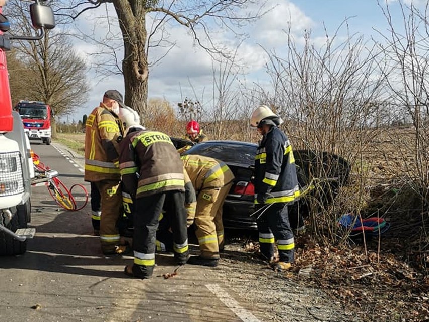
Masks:
[[[163,207],[173,232],[174,257],[184,264],[189,255],[185,193],[172,190],[138,198],[134,207],[134,275],[150,277],[155,266],[156,231]],[[152,260],[153,259],[153,260]]]

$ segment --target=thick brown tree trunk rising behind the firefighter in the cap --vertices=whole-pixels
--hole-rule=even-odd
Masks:
[[[114,2],[124,41],[122,72],[125,105],[146,120],[148,100],[148,60],[146,56],[146,1],[116,0]]]

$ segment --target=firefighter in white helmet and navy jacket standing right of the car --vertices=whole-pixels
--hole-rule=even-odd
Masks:
[[[255,204],[260,251],[274,270],[284,271],[294,261],[294,235],[288,219],[288,204],[300,196],[295,159],[288,137],[278,128],[283,120],[265,105],[256,108],[250,126],[262,140],[255,157]],[[273,262],[274,241],[279,261]]]

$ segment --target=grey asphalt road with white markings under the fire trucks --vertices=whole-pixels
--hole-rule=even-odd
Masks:
[[[81,157],[56,143],[31,143],[67,187],[83,183]],[[76,192],[82,202],[84,195]],[[65,211],[45,186],[33,188],[31,202],[36,235],[27,252],[0,258],[0,321],[263,320],[260,311],[252,313],[240,302],[226,279],[204,273],[217,268],[185,265],[164,279],[162,274],[176,268],[166,254],[156,256],[152,279],[127,278],[123,268],[132,257],[102,255],[99,238],[92,236],[89,203],[82,211]]]

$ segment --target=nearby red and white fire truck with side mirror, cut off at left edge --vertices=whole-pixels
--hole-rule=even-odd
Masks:
[[[4,0],[0,0],[0,14]],[[38,36],[15,36],[7,33],[9,23],[0,16],[0,255],[18,255],[26,251],[27,239],[34,228],[30,222],[31,178],[34,177],[30,142],[24,133],[20,115],[12,111],[5,51],[11,40],[42,39],[44,29],[55,26],[52,9],[35,0],[30,5],[33,27]]]

